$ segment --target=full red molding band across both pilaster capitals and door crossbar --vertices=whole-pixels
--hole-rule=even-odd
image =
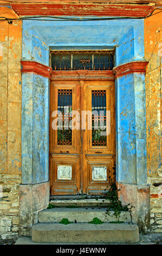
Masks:
[[[21,61],[21,72],[45,76],[51,80],[110,80],[113,81],[116,77],[124,76],[134,72],[146,72],[148,62],[129,62],[120,66],[116,66],[113,70],[52,70],[51,67],[43,65],[32,60]],[[114,76],[115,74],[115,76]]]

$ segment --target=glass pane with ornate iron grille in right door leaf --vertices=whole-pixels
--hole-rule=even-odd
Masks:
[[[106,146],[106,90],[92,90],[92,146]]]

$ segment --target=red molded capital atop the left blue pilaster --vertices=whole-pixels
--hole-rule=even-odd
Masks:
[[[38,62],[33,62],[32,60],[22,60],[21,61],[21,72],[22,73],[35,73],[41,76],[50,77],[52,73],[52,68],[43,65]]]

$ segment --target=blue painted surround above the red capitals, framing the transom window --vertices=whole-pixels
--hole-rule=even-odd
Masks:
[[[118,46],[116,65],[142,60],[144,20],[23,21],[23,59],[48,65],[50,46]]]

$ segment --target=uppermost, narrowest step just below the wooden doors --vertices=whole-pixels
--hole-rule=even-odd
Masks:
[[[108,199],[55,199],[50,200],[49,204],[55,205],[55,206],[72,206],[77,205],[79,207],[106,207],[110,205],[110,201]]]

